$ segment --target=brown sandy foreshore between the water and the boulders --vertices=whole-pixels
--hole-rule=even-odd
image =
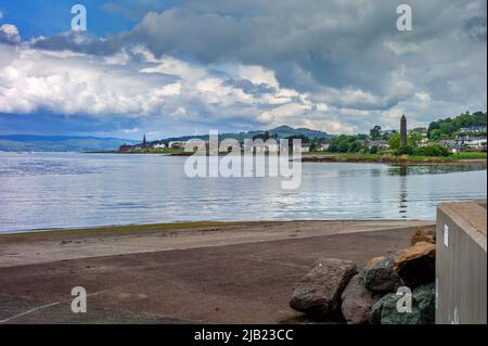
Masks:
[[[407,246],[434,221],[194,222],[0,235],[1,323],[284,323],[320,257]],[[73,313],[84,286],[88,312]]]

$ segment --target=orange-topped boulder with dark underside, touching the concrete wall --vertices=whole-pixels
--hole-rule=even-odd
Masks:
[[[419,242],[400,249],[394,262],[396,274],[411,290],[435,280],[436,245]]]

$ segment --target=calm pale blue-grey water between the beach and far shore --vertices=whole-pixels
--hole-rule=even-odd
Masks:
[[[435,219],[445,201],[486,198],[486,166],[303,164],[280,178],[197,178],[184,157],[0,153],[0,232],[188,220]],[[481,170],[470,170],[470,169]]]

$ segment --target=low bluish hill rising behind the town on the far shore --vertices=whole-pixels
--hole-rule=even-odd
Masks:
[[[254,136],[262,134],[265,132],[269,132],[271,136],[277,134],[278,138],[287,138],[291,136],[306,136],[309,139],[330,139],[330,138],[334,137],[333,134],[329,134],[323,131],[310,130],[307,128],[294,129],[286,125],[270,129],[268,131],[257,130],[257,131],[239,132],[239,133],[219,133],[219,137],[220,137],[220,139],[233,138],[239,141],[242,141],[246,138],[253,138]],[[166,138],[166,139],[159,140],[159,141],[154,141],[152,143],[168,143],[171,141],[188,141],[190,139],[208,140],[208,134],[171,137],[171,138]]]

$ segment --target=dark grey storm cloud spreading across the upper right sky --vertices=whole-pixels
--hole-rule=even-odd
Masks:
[[[466,11],[466,3],[473,10]],[[74,42],[69,36],[57,36],[36,44],[92,54],[112,54],[123,46],[143,44],[156,56],[190,55],[202,63],[234,60],[262,65],[275,71],[279,80],[290,87],[294,86],[290,71],[295,67],[310,73],[319,87],[355,85],[377,93],[391,87],[388,72],[401,64],[429,63],[422,56],[436,54],[428,47],[398,54],[390,46],[422,46],[436,40],[436,49],[442,44],[451,48],[453,40],[464,39],[450,38],[458,30],[478,39],[471,47],[460,42],[470,50],[486,46],[480,41],[484,37],[486,40],[486,27],[483,29],[486,14],[476,9],[486,8],[483,1],[412,1],[412,33],[396,29],[398,4],[398,1],[187,1],[180,8],[147,13],[132,30],[106,41]],[[117,5],[118,11],[123,9]]]

